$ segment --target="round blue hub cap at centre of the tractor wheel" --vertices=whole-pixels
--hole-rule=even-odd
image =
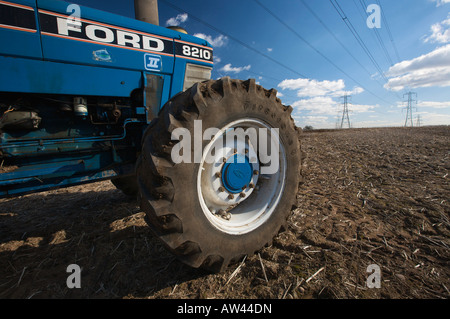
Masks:
[[[222,168],[222,184],[232,194],[245,189],[253,176],[253,166],[247,156],[234,154]]]

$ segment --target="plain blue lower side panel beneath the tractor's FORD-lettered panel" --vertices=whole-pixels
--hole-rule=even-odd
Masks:
[[[0,91],[129,97],[142,72],[0,56]],[[11,76],[11,75],[14,76]]]

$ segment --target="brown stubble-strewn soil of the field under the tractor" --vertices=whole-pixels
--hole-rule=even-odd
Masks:
[[[109,181],[1,199],[0,298],[449,298],[450,127],[312,130],[302,148],[287,229],[219,274],[166,252]]]

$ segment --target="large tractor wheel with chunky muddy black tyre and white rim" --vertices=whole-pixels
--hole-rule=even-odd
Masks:
[[[287,217],[296,203],[300,181],[301,129],[295,126],[291,117],[292,107],[282,105],[276,94],[275,89],[266,90],[254,79],[241,81],[225,77],[197,83],[166,103],[144,134],[141,158],[136,167],[141,209],[156,237],[191,267],[220,272],[270,244],[286,226]],[[242,191],[244,195],[230,190],[233,182],[239,181],[232,175],[225,180],[222,177],[222,183],[229,182],[225,190],[221,186],[219,191],[209,191],[203,171],[214,169],[215,164],[202,166],[203,162],[178,162],[172,156],[178,142],[172,139],[172,133],[181,128],[194,136],[195,120],[202,121],[202,137],[208,128],[223,128],[222,132],[225,132],[230,123],[238,123],[235,127],[277,128],[282,172],[276,172],[273,175],[276,178],[260,175],[256,185],[242,184],[242,189],[247,187],[245,192],[248,191]],[[195,137],[192,142],[194,145]],[[208,145],[211,146],[212,139],[202,139],[201,143],[201,150],[205,151]],[[194,150],[190,152],[191,158],[195,158]],[[239,150],[234,149],[234,152]],[[225,162],[226,158],[222,159]],[[252,171],[255,166],[251,165],[261,164],[259,156],[257,162],[242,164],[247,165],[245,167],[235,166],[234,173],[237,176],[251,171],[248,179],[256,181],[258,171]],[[262,164],[259,167],[262,173]],[[225,174],[222,166],[221,169]],[[216,176],[219,175],[216,172]],[[218,183],[210,182],[208,178],[206,181],[211,185]],[[221,191],[229,192],[227,198],[234,197],[237,204],[230,205],[228,211],[219,210],[221,214],[218,214],[215,207],[211,208],[214,205],[208,203],[211,197],[222,196]],[[240,211],[236,213],[236,210]]]

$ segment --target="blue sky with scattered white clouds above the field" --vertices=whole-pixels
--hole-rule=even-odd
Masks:
[[[73,2],[134,17],[132,0]],[[160,0],[159,18],[213,44],[213,78],[276,88],[298,126],[335,128],[345,94],[352,127],[402,126],[409,91],[414,124],[450,125],[450,0]]]

